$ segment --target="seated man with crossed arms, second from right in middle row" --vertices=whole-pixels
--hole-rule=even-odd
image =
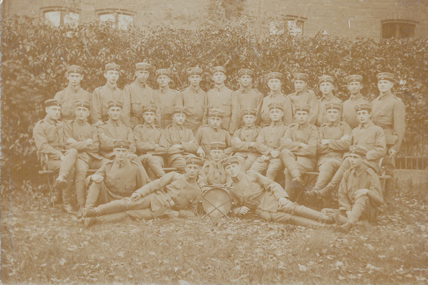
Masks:
[[[346,122],[341,122],[341,104],[338,102],[327,103],[325,112],[330,122],[324,123],[318,129],[319,138],[317,145],[318,154],[318,179],[312,191],[306,195],[315,198],[318,190],[323,189],[330,182],[333,175],[343,162],[345,152],[348,151],[351,141],[351,127]],[[329,201],[323,201],[327,205]]]

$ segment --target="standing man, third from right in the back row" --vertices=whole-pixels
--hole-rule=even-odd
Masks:
[[[319,86],[320,86],[320,91],[322,93],[322,97],[318,99],[318,119],[317,122],[315,123],[316,126],[321,126],[324,123],[329,122],[329,119],[327,118],[327,113],[326,113],[326,104],[328,103],[338,103],[340,106],[340,112],[342,113],[342,100],[340,100],[339,98],[335,97],[333,95],[333,88],[334,88],[334,77],[330,76],[330,75],[323,75],[319,78]],[[340,121],[341,118],[339,118]]]

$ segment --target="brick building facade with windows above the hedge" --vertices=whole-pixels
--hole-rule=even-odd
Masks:
[[[231,2],[220,0],[217,3]],[[256,32],[302,33],[318,31],[356,39],[428,37],[428,1],[425,0],[234,0],[242,14],[253,17]],[[197,29],[215,0],[4,0],[2,17],[38,15],[53,25],[114,21],[128,24],[168,25]],[[232,1],[233,2],[233,1]],[[211,6],[210,6],[211,5]],[[229,7],[230,8],[230,7]],[[222,21],[219,20],[219,24]]]

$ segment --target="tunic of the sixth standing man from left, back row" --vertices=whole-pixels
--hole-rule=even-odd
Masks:
[[[208,113],[211,109],[220,109],[224,111],[221,128],[233,134],[240,124],[241,109],[238,98],[232,96],[233,91],[224,84],[205,93],[205,110],[202,118],[202,125],[208,124]]]

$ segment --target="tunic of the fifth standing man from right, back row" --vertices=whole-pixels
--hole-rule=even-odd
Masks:
[[[293,111],[291,107],[290,98],[282,94],[280,90],[275,93],[269,93],[265,98],[263,98],[262,107],[260,111],[260,117],[262,119],[261,127],[270,125],[269,117],[269,104],[270,103],[281,103],[283,105],[284,116],[282,117],[282,122],[286,125],[291,123],[293,119]]]

